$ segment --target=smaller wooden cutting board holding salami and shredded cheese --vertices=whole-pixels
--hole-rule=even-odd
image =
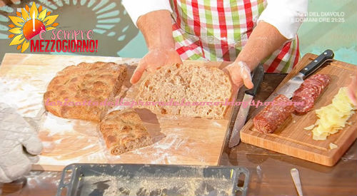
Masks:
[[[284,83],[316,57],[316,55],[311,53],[303,56],[301,61],[299,61],[296,67],[293,68],[293,71],[284,78],[276,90],[281,88]],[[338,93],[339,88],[348,86],[351,82],[351,76],[357,75],[357,66],[341,61],[333,61],[320,68],[315,74],[318,73],[330,76],[331,83],[320,98],[318,98],[314,109],[330,104],[333,96]],[[278,130],[272,134],[262,134],[254,131],[253,120],[251,119],[241,130],[241,140],[244,143],[256,145],[278,153],[291,155],[322,165],[333,166],[357,138],[356,113],[348,120],[352,125],[347,125],[346,128],[334,135],[328,136],[327,140],[324,141],[313,140],[311,130],[303,129],[309,125],[313,125],[317,119],[314,110],[305,115],[293,114],[291,120],[288,120],[282,128],[278,128]],[[338,148],[331,150],[329,148],[330,143],[338,145]]]

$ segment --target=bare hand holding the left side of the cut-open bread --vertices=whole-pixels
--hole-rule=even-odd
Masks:
[[[130,82],[137,83],[144,71],[153,73],[161,66],[172,65],[174,63],[182,63],[180,56],[174,48],[152,48],[144,58],[139,61],[138,67],[135,69]]]

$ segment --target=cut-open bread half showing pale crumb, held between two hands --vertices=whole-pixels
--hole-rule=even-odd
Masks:
[[[231,91],[228,75],[218,68],[174,64],[147,76],[136,100],[141,100],[144,108],[156,114],[221,119],[228,108],[223,103],[231,98]],[[188,102],[190,105],[180,105]]]

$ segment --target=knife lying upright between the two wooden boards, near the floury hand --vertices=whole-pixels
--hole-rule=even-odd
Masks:
[[[254,96],[256,96],[256,92],[258,91],[261,81],[263,81],[263,76],[264,76],[264,68],[261,64],[259,64],[258,67],[256,67],[256,69],[253,72],[253,78],[252,78],[253,88],[248,89],[244,92],[241,108],[239,108],[236,121],[233,125],[231,138],[229,138],[228,148],[232,148],[238,145],[239,141],[241,141],[241,135],[240,135],[241,128],[243,128],[244,124],[246,123],[246,117],[248,115],[250,103],[253,100]],[[249,105],[246,108],[244,108],[242,107],[243,103],[249,103]]]

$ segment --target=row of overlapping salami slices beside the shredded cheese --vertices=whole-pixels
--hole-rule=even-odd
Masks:
[[[321,95],[322,91],[330,83],[330,77],[323,74],[316,74],[303,81],[301,86],[293,93],[294,110],[296,113],[308,113],[313,108],[313,104]]]

